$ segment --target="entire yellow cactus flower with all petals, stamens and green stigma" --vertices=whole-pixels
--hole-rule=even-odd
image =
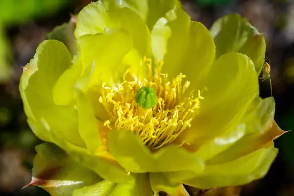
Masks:
[[[20,92],[52,196],[189,196],[265,176],[282,131],[259,97],[265,40],[238,14],[210,30],[178,0],[100,0],[59,26]]]

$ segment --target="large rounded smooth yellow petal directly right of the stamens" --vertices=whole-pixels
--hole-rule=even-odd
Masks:
[[[240,121],[259,93],[258,76],[252,61],[246,55],[235,52],[222,55],[213,64],[205,86],[207,91],[202,93],[204,99],[200,100],[192,127],[177,138],[179,143],[185,141],[183,147],[191,151],[198,150],[217,136],[223,137],[223,142],[227,144],[240,139],[244,134]],[[210,156],[209,145],[203,146],[201,151],[202,155]]]

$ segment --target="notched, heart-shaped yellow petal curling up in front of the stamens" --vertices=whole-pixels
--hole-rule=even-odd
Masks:
[[[136,134],[127,130],[110,131],[108,148],[120,165],[129,172],[202,171],[203,169],[201,160],[185,149],[169,145],[152,153]]]

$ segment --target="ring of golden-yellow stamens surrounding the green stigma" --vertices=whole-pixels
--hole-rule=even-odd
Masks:
[[[185,75],[180,73],[171,82],[168,74],[160,73],[162,65],[163,62],[159,61],[152,66],[152,61],[144,58],[141,66],[147,66],[148,79],[139,80],[127,71],[124,81],[117,87],[107,87],[103,83],[99,98],[111,116],[105,126],[135,132],[151,149],[171,143],[187,127],[191,127],[200,106],[199,100],[203,99],[199,90],[197,98],[193,93],[186,96],[190,82],[182,84]],[[136,93],[142,87],[156,92],[157,103],[153,107],[141,107],[136,103]]]

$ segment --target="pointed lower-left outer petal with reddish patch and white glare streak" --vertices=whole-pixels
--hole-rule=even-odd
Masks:
[[[43,143],[36,151],[32,181],[27,186],[42,187],[51,196],[72,196],[74,189],[101,180],[95,172],[80,166],[53,144]]]

